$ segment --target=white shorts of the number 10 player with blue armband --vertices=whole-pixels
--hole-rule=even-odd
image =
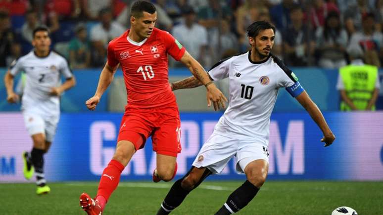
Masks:
[[[269,163],[269,152],[264,142],[240,140],[213,133],[203,144],[192,166],[206,167],[213,174],[221,173],[231,158],[236,157],[238,173],[252,161],[263,159]]]

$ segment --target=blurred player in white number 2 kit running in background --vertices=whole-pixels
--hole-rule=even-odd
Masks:
[[[75,85],[75,78],[66,59],[50,51],[49,30],[45,26],[33,31],[34,50],[17,61],[4,77],[7,101],[19,100],[13,91],[14,77],[21,71],[26,74],[26,83],[21,101],[25,126],[32,137],[31,152],[23,152],[24,176],[30,179],[36,172],[37,194],[50,192],[44,177],[44,154],[48,152],[60,117],[60,95]],[[66,81],[61,85],[61,76]]]

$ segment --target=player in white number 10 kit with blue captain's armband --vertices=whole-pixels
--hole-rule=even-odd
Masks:
[[[236,158],[237,171],[244,172],[247,180],[230,194],[216,215],[234,214],[254,198],[268,173],[270,115],[280,87],[286,87],[307,110],[322,130],[325,146],[335,140],[321,111],[294,73],[270,53],[275,27],[258,21],[247,28],[247,34],[250,51],[224,59],[209,71],[212,80],[229,78],[228,109],[199,151],[192,169],[173,184],[157,215],[169,214],[208,175],[222,172],[232,157]],[[202,84],[190,77],[171,85],[176,90]]]

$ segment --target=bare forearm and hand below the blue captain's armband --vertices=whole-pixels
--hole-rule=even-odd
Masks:
[[[331,145],[335,140],[335,135],[333,134],[333,131],[331,131],[331,129],[329,128],[329,125],[327,125],[327,122],[323,117],[321,110],[319,110],[318,106],[313,102],[313,100],[311,100],[306,90],[304,90],[295,98],[304,107],[304,109],[306,109],[306,111],[310,114],[314,122],[322,130],[324,136],[321,139],[321,142],[325,142],[325,146]]]

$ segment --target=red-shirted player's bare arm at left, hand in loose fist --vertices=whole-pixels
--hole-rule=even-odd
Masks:
[[[95,95],[85,102],[89,110],[93,111],[96,109],[96,105],[100,101],[102,94],[105,92],[106,88],[108,88],[110,83],[112,83],[113,77],[117,71],[118,65],[119,64],[117,64],[115,67],[111,67],[106,62],[104,68],[101,71]]]

